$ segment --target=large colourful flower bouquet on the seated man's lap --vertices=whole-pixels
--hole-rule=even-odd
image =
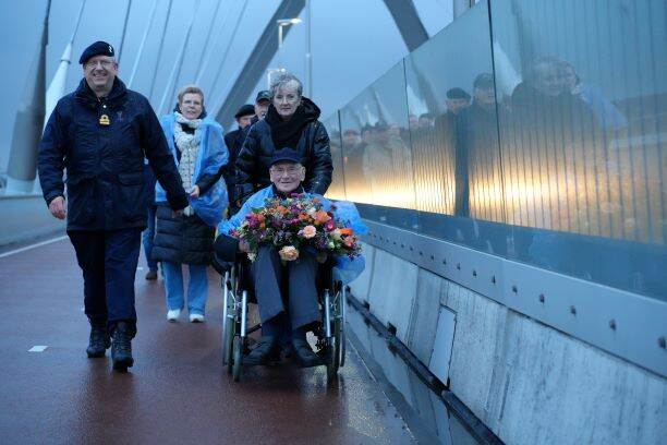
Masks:
[[[260,245],[272,244],[282,261],[294,261],[300,251],[312,248],[317,260],[328,254],[354,258],[361,244],[349,221],[335,216],[336,207],[325,209],[322,200],[304,194],[265,200],[264,207],[253,208],[243,222],[230,234],[247,242],[248,257],[254,261]]]

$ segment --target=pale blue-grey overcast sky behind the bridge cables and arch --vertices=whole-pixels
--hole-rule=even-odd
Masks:
[[[279,0],[201,0],[194,16],[194,26],[185,50],[179,86],[193,82],[199,71],[201,85],[207,95],[207,105],[218,107],[245,63],[250,51]],[[135,63],[138,47],[146,26],[150,26],[146,46],[138,62],[137,75],[132,88],[148,95],[156,72],[158,48],[169,0],[157,0],[153,22],[149,22],[154,0],[133,0],[128,22],[125,44],[121,56],[120,77],[125,82]],[[38,50],[46,0],[0,2],[0,51],[4,69],[0,72],[0,171],[7,169],[9,146],[17,104],[24,95],[25,80]],[[414,0],[417,12],[429,35],[434,35],[451,22],[450,0]],[[49,46],[47,50],[47,85],[53,77],[58,63],[74,31],[82,0],[52,0],[49,17]],[[197,0],[173,0],[167,25],[162,58],[157,67],[155,93],[150,97],[158,108],[169,74],[179,49],[185,38],[187,23]],[[95,40],[106,40],[120,50],[123,20],[128,0],[87,0],[68,72],[66,91],[72,91],[82,77],[78,57]],[[305,19],[305,11],[301,15]],[[312,0],[313,99],[320,106],[323,117],[350,101],[359,92],[396,64],[408,52],[383,0]],[[239,28],[232,35],[235,24]],[[213,27],[209,45],[204,44]],[[305,24],[294,25],[288,34],[282,60],[288,70],[304,79]],[[226,48],[227,59],[222,63]],[[210,56],[209,56],[210,55]],[[208,62],[206,62],[208,60]],[[221,64],[222,63],[222,64]],[[269,64],[277,67],[278,56]],[[215,80],[215,74],[220,75]],[[215,85],[215,89],[211,88]],[[255,92],[266,86],[263,80]],[[254,96],[255,93],[253,93]],[[169,97],[171,107],[174,98]],[[251,98],[248,98],[251,100]],[[159,110],[158,110],[159,111]],[[161,111],[165,111],[163,109]],[[211,111],[217,111],[213,109]],[[231,130],[231,129],[226,129]]]

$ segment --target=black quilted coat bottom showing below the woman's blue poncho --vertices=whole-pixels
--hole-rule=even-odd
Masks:
[[[158,205],[153,241],[153,258],[181,264],[208,265],[213,260],[216,229],[196,214],[173,216],[167,205]]]

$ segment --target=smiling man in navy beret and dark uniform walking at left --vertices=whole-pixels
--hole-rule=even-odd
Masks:
[[[83,270],[90,322],[86,352],[104,357],[111,347],[113,369],[124,372],[134,363],[134,276],[149,196],[144,157],[173,211],[187,206],[187,194],[148,100],[117,77],[111,45],[96,41],[80,63],[84,79],[58,101],[45,129],[39,181],[51,214],[68,218],[68,236]]]

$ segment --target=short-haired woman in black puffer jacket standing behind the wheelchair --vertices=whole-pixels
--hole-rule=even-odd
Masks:
[[[301,82],[282,74],[271,85],[272,104],[266,118],[253,124],[237,159],[237,190],[244,202],[270,184],[269,165],[274,152],[294,147],[306,168],[306,192],[325,194],[331,183],[329,135],[317,119],[319,108],[302,96]]]

